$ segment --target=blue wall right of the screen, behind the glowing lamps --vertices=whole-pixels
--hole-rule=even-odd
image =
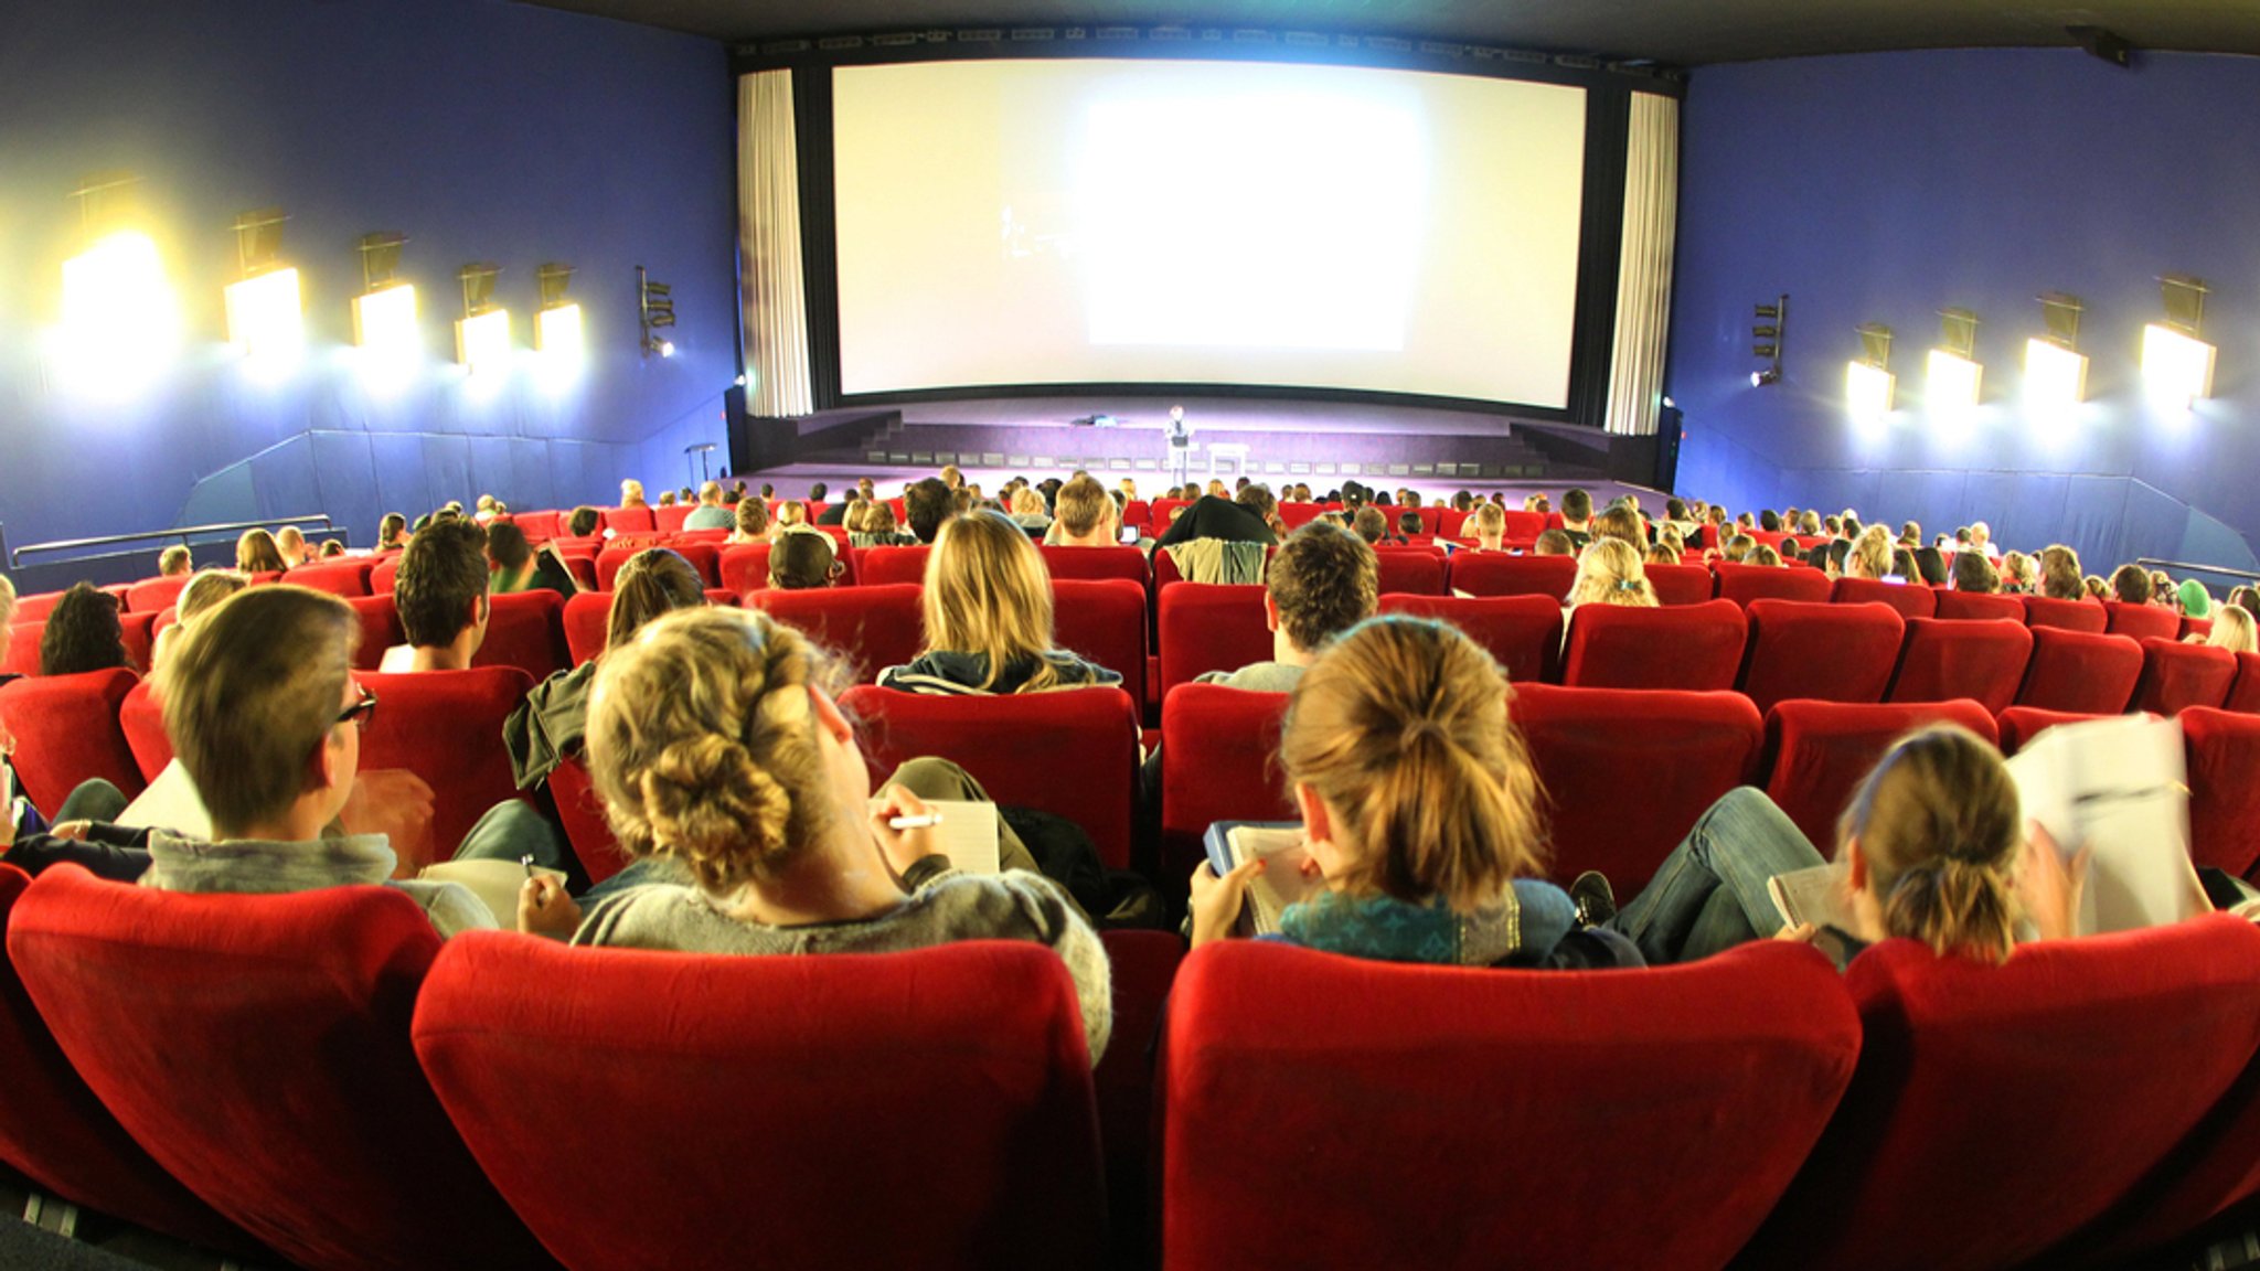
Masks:
[[[1679,491],[1858,507],[1926,531],[1984,518],[2088,572],[2138,554],[2253,565],[2260,461],[2260,59],[1959,50],[1765,61],[1690,77],[1668,391]],[[2161,274],[2213,283],[2215,398],[2156,414],[2142,323]],[[1790,294],[1788,378],[1751,389],[1751,305]],[[2084,299],[2088,405],[2018,403],[2041,292]],[[1941,308],[1975,310],[1984,405],[1923,407]],[[1894,328],[1898,412],[1844,416],[1862,321]]]

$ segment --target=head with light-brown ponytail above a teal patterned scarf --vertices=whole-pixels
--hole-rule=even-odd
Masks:
[[[1455,626],[1374,617],[1288,697],[1279,762],[1333,887],[1471,911],[1544,864],[1507,676]]]

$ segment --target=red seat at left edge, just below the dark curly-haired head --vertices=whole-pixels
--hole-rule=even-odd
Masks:
[[[54,816],[81,780],[102,778],[133,798],[147,785],[118,726],[118,708],[140,676],[124,667],[36,676],[0,685],[0,726],[16,735],[16,778],[34,807]]]

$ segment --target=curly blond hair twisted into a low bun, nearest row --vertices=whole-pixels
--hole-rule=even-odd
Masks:
[[[714,898],[775,877],[832,830],[807,636],[748,608],[683,608],[610,649],[588,699],[588,767],[612,837],[680,862]]]

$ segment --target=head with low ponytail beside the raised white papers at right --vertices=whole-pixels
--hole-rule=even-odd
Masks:
[[[1860,783],[1837,844],[1855,905],[1883,934],[1939,954],[2009,957],[2025,835],[2016,783],[1977,735],[1935,724],[1903,737]]]

